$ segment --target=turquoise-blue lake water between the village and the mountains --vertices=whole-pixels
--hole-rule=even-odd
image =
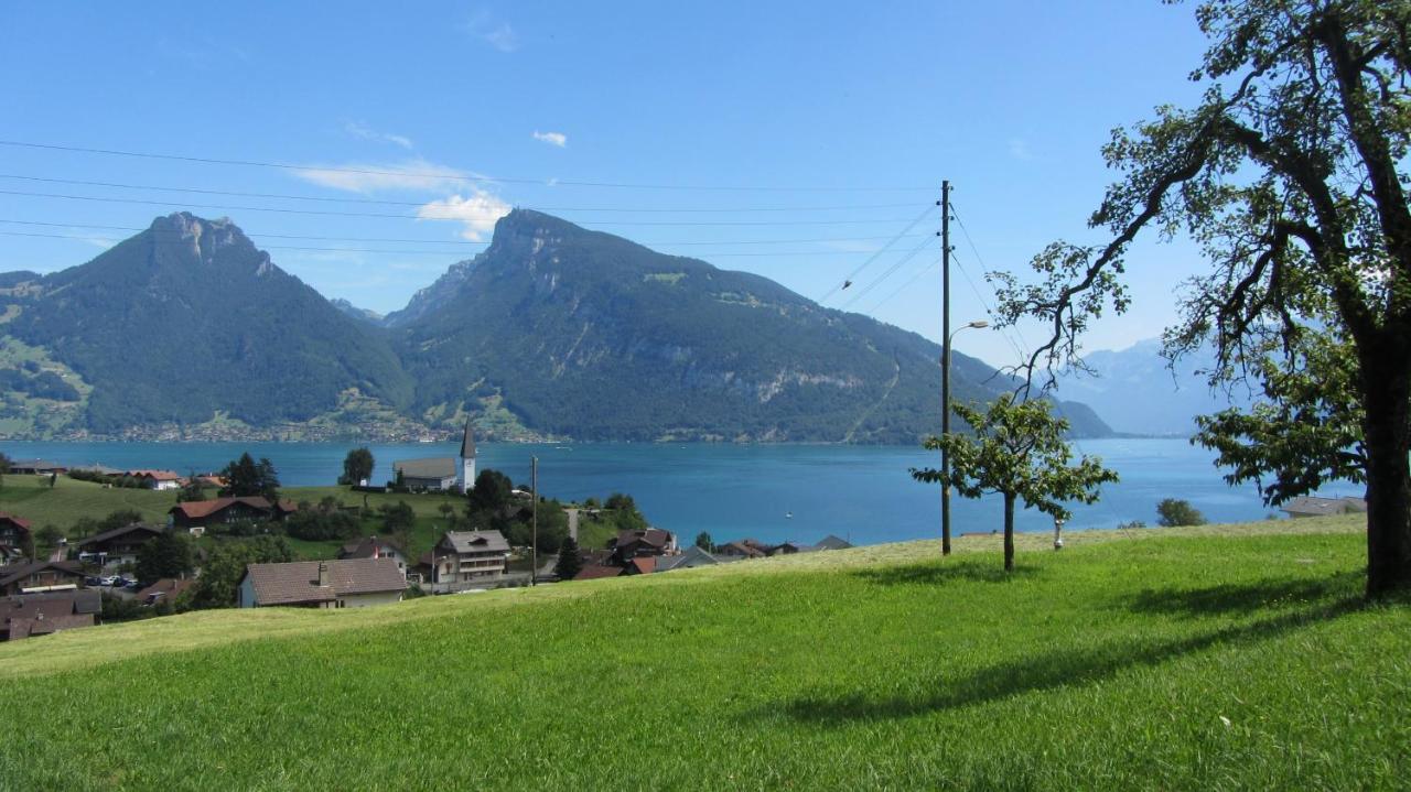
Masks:
[[[286,486],[330,485],[356,444],[339,443],[0,443],[11,458],[41,457],[78,465],[210,471],[250,451],[268,457]],[[370,445],[374,481],[391,476],[394,459],[454,457],[457,444]],[[1253,486],[1228,486],[1212,454],[1184,440],[1088,440],[1078,444],[1116,469],[1122,482],[1103,489],[1094,506],[1075,506],[1071,528],[1116,527],[1129,520],[1156,524],[1163,497],[1189,500],[1212,521],[1259,520],[1271,510]],[[940,488],[912,481],[907,469],[938,464],[910,447],[588,444],[528,445],[484,443],[480,468],[495,468],[516,483],[529,482],[529,458],[539,457],[539,489],[579,500],[619,490],[632,495],[652,523],[690,541],[698,531],[717,540],[817,541],[827,534],[855,544],[940,536]],[[1342,486],[1332,495],[1360,495]],[[952,499],[954,530],[1002,527],[998,499]],[[786,517],[786,514],[793,517]],[[1280,514],[1283,516],[1283,514]],[[1053,530],[1034,510],[1022,510],[1019,528]]]

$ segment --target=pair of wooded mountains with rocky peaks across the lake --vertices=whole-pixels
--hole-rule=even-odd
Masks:
[[[398,440],[466,417],[499,438],[914,443],[938,428],[937,344],[529,210],[387,317],[186,213],[80,266],[0,273],[0,303],[11,438]],[[959,354],[951,380],[959,400],[1009,385]],[[1062,412],[1075,434],[1110,431],[1084,404]]]

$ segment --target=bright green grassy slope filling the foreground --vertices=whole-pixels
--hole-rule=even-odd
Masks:
[[[912,543],[0,644],[16,788],[1395,788],[1355,520]],[[981,554],[982,552],[982,554]]]

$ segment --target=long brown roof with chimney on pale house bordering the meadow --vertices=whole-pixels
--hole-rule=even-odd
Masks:
[[[327,565],[326,586],[319,585],[320,564]],[[332,602],[347,595],[406,589],[406,578],[391,558],[250,564],[246,567],[246,576],[255,589],[258,605],[305,605]]]

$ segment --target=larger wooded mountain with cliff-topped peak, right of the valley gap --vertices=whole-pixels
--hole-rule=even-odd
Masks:
[[[529,210],[388,317],[419,414],[504,410],[580,440],[914,443],[940,347],[783,286]],[[958,400],[1007,380],[964,355]],[[1109,430],[1067,404],[1078,434]]]

